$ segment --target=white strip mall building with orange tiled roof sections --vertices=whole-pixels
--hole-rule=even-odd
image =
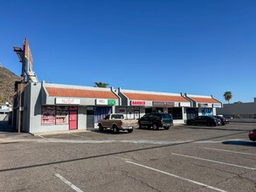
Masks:
[[[171,113],[176,125],[197,115],[216,114],[216,108],[222,107],[212,96],[69,86],[45,81],[26,85],[23,98],[22,107],[13,110],[13,127],[19,124],[22,132],[31,134],[98,128],[98,120],[107,113],[123,113],[130,120],[150,112]],[[18,110],[21,110],[20,118]]]

